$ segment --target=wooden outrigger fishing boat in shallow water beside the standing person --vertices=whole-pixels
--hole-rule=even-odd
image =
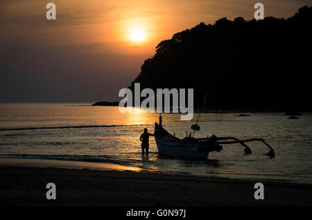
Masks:
[[[199,116],[198,116],[199,118]],[[198,121],[191,126],[193,129],[193,136],[195,131],[199,131]],[[241,144],[244,148],[245,154],[251,154],[252,151],[245,143],[251,141],[263,142],[270,151],[266,154],[268,156],[275,156],[274,149],[266,143],[262,138],[251,138],[248,140],[239,140],[234,137],[216,137],[214,135],[207,136],[207,138],[194,138],[191,133],[186,138],[180,139],[175,135],[170,134],[164,127],[162,127],[162,116],[159,116],[159,124],[155,122],[155,141],[159,154],[165,156],[172,156],[177,158],[187,159],[206,159],[209,152],[220,152],[222,145]]]

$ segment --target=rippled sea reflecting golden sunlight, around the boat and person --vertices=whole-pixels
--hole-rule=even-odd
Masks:
[[[250,115],[203,113],[196,137],[262,137],[275,149],[275,158],[263,156],[268,148],[255,142],[249,144],[250,155],[240,145],[224,145],[223,152],[213,152],[204,161],[178,160],[159,156],[153,138],[146,157],[141,156],[139,136],[144,127],[153,133],[158,114],[123,114],[118,107],[84,104],[0,104],[0,157],[92,161],[159,172],[312,183],[312,114],[304,113],[299,120],[290,120],[284,113]],[[163,121],[180,138],[194,123],[180,121],[178,114],[163,114]]]

